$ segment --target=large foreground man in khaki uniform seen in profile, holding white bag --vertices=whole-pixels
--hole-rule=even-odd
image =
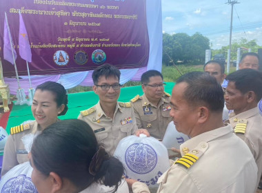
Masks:
[[[256,190],[257,167],[248,146],[224,125],[221,85],[204,72],[184,74],[172,91],[170,115],[179,132],[191,137],[182,157],[158,180],[158,193],[234,192]],[[147,185],[127,179],[134,193]]]

